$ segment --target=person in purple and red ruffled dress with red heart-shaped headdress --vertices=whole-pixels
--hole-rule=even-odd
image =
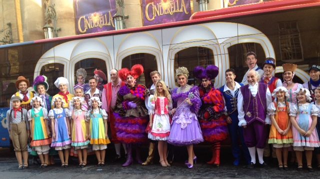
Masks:
[[[125,144],[127,151],[126,162],[122,167],[132,164],[132,145],[136,153],[135,159],[142,164],[140,159],[139,145],[147,142],[145,128],[148,123],[148,110],[145,108],[145,96],[147,89],[144,85],[136,84],[135,80],[143,73],[140,64],[133,65],[131,70],[122,68],[118,75],[122,81],[126,81],[116,96],[114,117],[117,139]]]

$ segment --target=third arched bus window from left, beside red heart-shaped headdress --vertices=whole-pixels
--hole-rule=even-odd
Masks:
[[[131,54],[122,59],[121,67],[130,69],[135,64],[143,66],[143,74],[138,78],[137,83],[150,87],[152,85],[150,72],[158,69],[155,56],[149,53]]]

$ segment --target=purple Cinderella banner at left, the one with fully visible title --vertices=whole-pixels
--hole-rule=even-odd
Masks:
[[[116,0],[73,0],[76,34],[114,30]]]

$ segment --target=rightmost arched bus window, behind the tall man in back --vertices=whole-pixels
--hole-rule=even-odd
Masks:
[[[245,72],[248,70],[248,66],[245,63],[245,54],[249,51],[253,51],[256,54],[256,63],[262,68],[262,63],[265,60],[265,54],[263,48],[258,43],[238,43],[228,48],[229,54],[229,68],[235,70],[235,81],[241,82]]]

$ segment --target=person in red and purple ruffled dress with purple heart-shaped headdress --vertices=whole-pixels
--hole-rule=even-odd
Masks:
[[[219,89],[215,89],[211,80],[218,75],[218,67],[208,65],[205,69],[197,66],[193,70],[194,77],[201,80],[199,94],[202,105],[198,118],[204,141],[212,144],[212,158],[207,164],[220,165],[221,141],[228,136],[226,116],[224,115],[223,96]]]

